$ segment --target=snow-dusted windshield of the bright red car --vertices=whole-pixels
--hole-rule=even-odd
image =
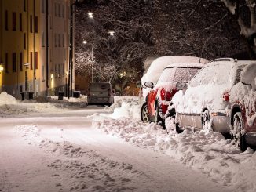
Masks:
[[[162,82],[188,82],[196,75],[199,68],[192,67],[170,67],[164,69],[158,83]]]

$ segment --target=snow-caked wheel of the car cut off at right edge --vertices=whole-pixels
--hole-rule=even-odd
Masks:
[[[233,116],[231,136],[232,139],[236,139],[236,144],[240,147],[240,150],[247,150],[247,142],[245,139],[243,127],[243,118],[240,112],[236,112],[236,114],[234,114]]]

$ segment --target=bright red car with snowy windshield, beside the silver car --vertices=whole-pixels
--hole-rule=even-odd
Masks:
[[[203,67],[204,63],[176,63],[164,68],[157,84],[145,82],[151,88],[146,103],[148,107],[148,120],[164,125],[164,115],[171,98],[177,92],[176,82],[188,82]]]

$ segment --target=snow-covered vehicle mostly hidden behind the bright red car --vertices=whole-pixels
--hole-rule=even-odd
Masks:
[[[149,121],[148,104],[146,103],[146,98],[148,96],[148,92],[152,90],[144,85],[145,82],[152,82],[155,85],[159,80],[163,69],[172,63],[208,63],[208,60],[196,56],[161,56],[153,60],[150,67],[148,67],[147,73],[141,78],[141,86],[144,97],[144,103],[141,106],[142,121]]]

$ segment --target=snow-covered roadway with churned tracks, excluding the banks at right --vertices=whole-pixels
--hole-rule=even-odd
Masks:
[[[92,127],[104,108],[0,118],[0,191],[231,191]]]

